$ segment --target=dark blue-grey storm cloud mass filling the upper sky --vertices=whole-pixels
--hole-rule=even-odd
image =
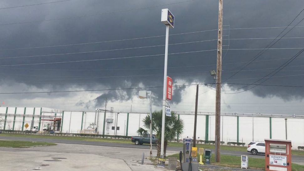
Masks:
[[[29,4],[38,1],[27,1]],[[34,21],[50,18],[63,18],[70,16],[88,15],[93,13],[103,13],[110,11],[120,11],[132,8],[153,6],[158,4],[173,3],[176,1],[80,1],[72,0],[62,3],[53,3],[48,5],[31,6],[24,8],[12,8],[0,10],[2,18],[0,23],[14,23],[24,21]],[[24,1],[6,1],[2,2],[3,7],[18,6],[25,4]],[[272,1],[224,1],[224,25],[230,25],[230,28],[251,28],[251,27],[277,27],[287,26],[292,19],[302,10],[302,0],[290,1],[272,0]],[[159,36],[165,34],[165,26],[160,22],[160,11],[162,8],[169,8],[175,15],[175,28],[170,29],[170,34],[193,32],[200,30],[212,30],[218,26],[218,1],[216,0],[197,0],[187,3],[146,8],[128,12],[111,13],[104,15],[95,15],[81,18],[71,18],[63,20],[45,21],[37,23],[24,23],[3,25],[1,31],[0,49],[52,46],[59,44],[79,44],[87,42],[98,42],[107,40],[120,40],[129,38],[140,38],[147,36]],[[295,25],[304,17],[301,14]],[[303,25],[300,24],[300,25]],[[275,29],[244,29],[227,30],[224,26],[223,39],[234,38],[274,38],[282,28]],[[294,28],[286,37],[303,37],[304,28]],[[208,31],[194,34],[172,35],[169,44],[193,42],[201,40],[217,39],[217,31]],[[224,40],[223,49],[251,49],[265,48],[272,39],[262,40]],[[155,37],[149,39],[138,39],[118,42],[108,42],[99,44],[85,44],[50,48],[2,50],[1,57],[31,56],[45,54],[76,53],[97,50],[134,48],[141,46],[153,46],[165,44],[165,37]],[[216,41],[201,43],[170,45],[170,53],[190,52],[199,50],[216,49]],[[303,47],[303,39],[282,39],[273,48],[294,48]],[[291,58],[300,49],[297,50],[267,50],[265,54],[257,60],[270,60],[279,58]],[[67,54],[54,56],[40,56],[27,58],[1,59],[1,65],[31,64],[45,62],[75,61],[75,60],[93,60],[129,56],[156,55],[164,54],[165,47],[115,50],[85,54]],[[223,50],[223,54],[226,50]],[[238,62],[247,62],[252,59],[259,50],[228,50],[223,58],[223,78],[227,79],[234,72],[225,72],[238,70],[243,64],[229,64]],[[300,55],[304,56],[304,54]],[[253,62],[244,70],[275,68],[282,65],[285,60],[272,60],[265,62]],[[96,87],[107,88],[129,88],[142,86],[162,86],[164,56],[148,56],[134,59],[123,60],[102,60],[92,62],[75,62],[46,65],[24,65],[1,67],[3,73],[2,83],[13,84],[10,81],[24,82],[26,85],[34,86],[40,89],[48,90],[67,90],[75,89],[94,89]],[[303,58],[293,61],[292,65],[303,63]],[[172,54],[168,58],[168,75],[182,82],[202,82],[212,83],[213,79],[208,73],[175,75],[176,73],[187,72],[205,72],[216,68],[216,51],[197,52],[187,54]],[[170,68],[178,66],[209,65],[201,67]],[[22,68],[22,69],[21,69]],[[144,70],[121,70],[121,69],[140,69],[140,68],[160,68]],[[301,67],[286,68],[284,70],[301,70]],[[226,82],[233,83],[253,83],[255,80],[233,80],[264,77],[269,72],[266,71],[242,71],[233,76]],[[275,76],[295,75],[294,71],[282,71]],[[301,73],[301,72],[300,72]],[[153,76],[133,76],[129,75],[151,75]],[[37,76],[38,75],[38,76]],[[119,77],[111,77],[119,76]],[[103,78],[90,78],[103,77]],[[107,77],[107,78],[105,78]],[[284,85],[302,85],[303,81],[298,77],[278,77],[271,78],[265,82],[268,84]],[[232,89],[242,86],[229,85]],[[181,101],[181,95],[185,87],[176,87],[174,90],[173,102]],[[154,101],[160,101],[162,98],[162,88],[151,89],[154,93]],[[20,91],[20,90],[15,90]],[[109,100],[128,100],[136,95],[138,90],[127,91],[106,91],[102,92],[96,99],[96,106],[104,104],[105,98]],[[258,96],[279,96],[283,99],[302,98],[304,95],[302,89],[286,87],[262,87],[258,86],[250,91]],[[50,96],[69,96],[70,94],[56,94]],[[35,97],[35,95],[31,95]],[[81,101],[79,103],[82,103]]]

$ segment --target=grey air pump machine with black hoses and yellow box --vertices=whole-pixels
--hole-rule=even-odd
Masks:
[[[192,139],[183,139],[182,169],[184,171],[198,171],[197,148],[192,147]]]

